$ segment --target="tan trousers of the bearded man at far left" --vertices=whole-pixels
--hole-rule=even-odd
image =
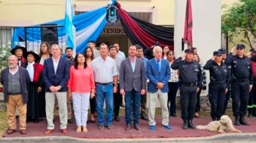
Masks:
[[[16,118],[15,111],[16,107],[19,111],[19,121],[20,121],[20,130],[26,129],[26,114],[27,114],[27,104],[23,104],[22,95],[8,95],[7,96],[7,116],[9,128],[16,130]]]

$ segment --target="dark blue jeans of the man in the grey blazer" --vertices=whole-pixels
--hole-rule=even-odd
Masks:
[[[141,104],[141,93],[132,89],[130,92],[125,92],[125,122],[126,125],[131,125],[131,111],[133,106],[133,125],[139,123],[139,106]],[[133,105],[132,105],[133,104]]]

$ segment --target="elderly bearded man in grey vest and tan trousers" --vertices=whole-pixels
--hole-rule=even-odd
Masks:
[[[8,134],[16,130],[15,110],[19,111],[20,133],[26,134],[27,85],[30,76],[25,68],[18,67],[18,58],[9,57],[9,67],[1,73],[1,84],[4,86],[4,102],[7,103],[9,129]]]

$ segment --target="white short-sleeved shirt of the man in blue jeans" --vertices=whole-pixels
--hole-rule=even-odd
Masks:
[[[106,57],[105,61],[101,56],[92,60],[91,67],[94,71],[94,80],[98,83],[113,82],[113,77],[118,75],[115,60]]]

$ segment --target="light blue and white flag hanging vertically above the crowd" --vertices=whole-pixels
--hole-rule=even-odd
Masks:
[[[74,25],[72,23],[73,20],[73,8],[72,8],[72,0],[66,0],[66,8],[65,8],[65,20],[64,20],[64,29],[66,30],[66,47],[71,47],[74,49]]]

